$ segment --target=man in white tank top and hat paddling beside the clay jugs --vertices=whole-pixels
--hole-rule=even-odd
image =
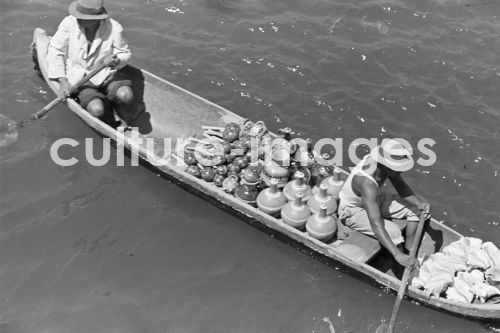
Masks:
[[[417,260],[407,255],[414,242],[419,217],[428,218],[430,205],[416,195],[401,177],[413,167],[411,148],[403,141],[385,139],[356,165],[339,194],[339,218],[364,234],[375,236],[406,267],[416,267]],[[389,179],[398,195],[382,191]],[[385,218],[385,219],[384,219]],[[406,243],[399,227],[390,219],[406,219]],[[404,247],[403,247],[404,243]]]

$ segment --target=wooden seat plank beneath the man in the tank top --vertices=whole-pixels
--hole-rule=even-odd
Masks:
[[[393,220],[403,230],[406,227],[405,220]],[[382,246],[376,238],[365,235],[351,228],[346,229],[346,236],[330,245],[335,251],[342,255],[362,263],[370,261],[381,250]]]

